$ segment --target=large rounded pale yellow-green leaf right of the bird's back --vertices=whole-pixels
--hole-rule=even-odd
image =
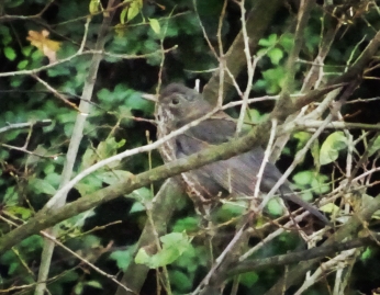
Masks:
[[[339,151],[346,147],[347,140],[343,132],[335,132],[331,134],[321,147],[321,164],[327,164],[335,161],[339,156]]]

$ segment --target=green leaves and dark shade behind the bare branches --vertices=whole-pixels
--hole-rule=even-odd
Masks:
[[[178,81],[192,87],[195,79],[200,79],[201,84],[204,84],[211,78],[212,69],[219,66],[204,39],[202,26],[211,45],[217,47],[216,31],[223,1],[199,1],[197,10],[193,1],[189,0],[131,2],[133,4],[128,9],[116,10],[111,30],[107,34],[108,54],[103,56],[97,75],[91,113],[79,147],[75,174],[101,159],[156,139],[155,125],[150,122],[154,118],[154,105],[143,100],[142,93],[155,93],[159,75],[164,84]],[[247,9],[254,2],[247,1]],[[256,54],[260,60],[252,86],[253,97],[278,94],[283,87],[284,64],[293,44],[295,2],[290,1],[277,12],[272,25],[259,42],[259,50]],[[105,4],[102,2],[103,7]],[[310,67],[308,63],[302,61],[311,61],[317,54],[321,18],[324,14],[333,14],[336,20],[345,22],[325,60],[324,70],[332,75],[339,75],[347,65],[350,65],[379,30],[380,15],[376,1],[340,1],[335,3],[334,8],[335,10],[333,8],[327,10],[322,1],[317,1],[313,9],[305,29],[304,47],[300,56],[302,60],[297,65],[297,89],[302,84],[304,73]],[[357,14],[350,15],[349,9]],[[93,48],[99,34],[102,22],[99,2],[5,0],[1,9],[1,72],[15,73],[0,79],[0,127],[42,120],[52,121],[48,126],[36,124],[33,128],[13,129],[0,134],[0,201],[1,213],[4,216],[0,222],[2,234],[10,231],[14,224],[26,223],[58,189],[65,154],[78,113],[72,105],[79,103],[91,63],[91,55],[83,54],[34,73],[65,95],[70,105],[54,97],[33,75],[23,72],[48,64],[46,53],[29,39],[30,32],[38,34],[42,34],[43,30],[49,32],[43,44],[51,46],[49,50],[62,60],[79,49],[87,18],[91,18],[91,22],[87,32],[85,52]],[[329,24],[325,25],[328,27]],[[224,50],[231,46],[239,30],[239,10],[234,2],[227,2],[221,34]],[[160,66],[161,46],[171,48],[165,54],[163,67]],[[347,121],[368,124],[379,122],[378,101],[366,101],[379,95],[377,77],[378,71],[371,71],[371,79],[365,79],[353,95],[351,99],[360,98],[362,102],[344,106]],[[244,72],[236,78],[242,84],[247,79]],[[227,95],[227,100],[237,99],[236,93]],[[261,122],[272,106],[272,101],[255,104],[249,110],[250,120],[254,123]],[[238,109],[230,110],[230,114],[237,116]],[[360,134],[361,131],[353,131],[355,137]],[[282,170],[309,138],[310,135],[304,132],[293,134],[278,162]],[[23,147],[25,143],[27,151],[14,148]],[[345,166],[347,145],[342,133],[332,132],[331,136],[326,133],[320,138],[320,146],[316,148],[321,149],[321,162],[315,164],[313,157],[315,154],[311,152],[295,170],[292,181],[301,189],[313,188],[314,191],[318,190],[320,194],[327,193],[332,189],[331,181],[334,177],[340,175],[336,167]],[[324,149],[327,150],[325,156]],[[362,152],[365,146],[359,145],[358,149]],[[335,155],[332,156],[328,152],[331,150],[336,150]],[[377,157],[376,151],[375,148],[373,157]],[[114,162],[76,185],[69,192],[68,201],[96,192],[120,181],[128,173],[139,173],[160,163],[157,151],[149,155],[139,154]],[[377,174],[372,177],[376,181]],[[59,225],[59,240],[107,273],[122,272],[133,259],[135,243],[147,218],[146,205],[160,184],[154,183],[152,186],[142,188],[132,195],[121,196],[63,222]],[[368,194],[377,193],[377,185],[369,188]],[[303,197],[311,201],[313,194],[305,191]],[[209,268],[209,253],[208,246],[203,243],[204,235],[199,228],[201,220],[194,213],[192,203],[182,197],[177,206],[177,212],[168,225],[170,235],[161,239],[164,257],[157,254],[152,259],[145,252],[139,252],[138,259],[152,268],[170,263],[168,271],[172,292],[185,294],[189,293],[205,274]],[[272,213],[277,209],[276,204],[269,207]],[[225,203],[217,211],[215,218],[219,223],[225,223],[241,214],[239,206]],[[376,224],[373,228],[376,229]],[[185,231],[189,236],[181,234]],[[254,245],[259,240],[260,237],[253,238],[250,243]],[[219,249],[223,249],[225,242],[226,239],[223,237],[215,238],[215,247]],[[0,290],[11,288],[10,292],[14,294],[33,293],[42,245],[43,238],[35,235],[1,253]],[[256,256],[286,253],[302,245],[303,241],[297,232],[288,232],[273,240]],[[379,274],[376,271],[379,266],[378,249],[368,248],[359,256],[354,266],[346,294],[357,294],[355,292],[370,294],[371,290],[379,286]],[[264,294],[280,274],[281,270],[277,269],[244,274],[241,276],[238,294]],[[24,287],[20,290],[12,288],[22,285]],[[327,285],[327,282],[321,282],[305,294],[329,294]],[[228,285],[227,290],[230,287]],[[110,280],[75,257],[68,256],[59,247],[56,248],[48,282],[51,294],[114,294],[115,288],[116,285]],[[149,272],[142,294],[156,294],[154,271]]]

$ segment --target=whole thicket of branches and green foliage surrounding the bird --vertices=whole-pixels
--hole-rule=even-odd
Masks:
[[[54,295],[370,294],[380,279],[379,30],[375,0],[5,0],[0,294],[44,294],[45,281]],[[295,158],[289,180],[303,200],[321,201],[334,227],[313,216],[289,225],[276,198],[243,227],[252,212],[242,198],[221,200],[205,220],[165,182],[176,168],[153,170],[163,164],[152,145],[155,105],[142,95],[195,79],[211,102],[220,80],[225,102],[259,98],[243,111],[244,128],[258,126],[266,145],[270,120],[283,124],[278,167]],[[239,105],[227,113],[239,117]],[[308,251],[291,257],[316,245],[332,248],[304,264]],[[294,260],[265,260],[286,253]]]

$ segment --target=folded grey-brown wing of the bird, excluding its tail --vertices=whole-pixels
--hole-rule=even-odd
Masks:
[[[219,112],[177,138],[180,157],[203,150],[210,145],[220,145],[232,140],[235,133],[236,123],[224,112]],[[234,189],[239,191],[241,194],[253,195],[262,160],[262,148],[255,147],[250,151],[228,160],[208,164],[205,170],[224,189],[228,191]],[[269,192],[281,175],[275,164],[267,163],[260,183],[261,191]]]

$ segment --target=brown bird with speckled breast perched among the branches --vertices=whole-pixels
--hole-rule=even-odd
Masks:
[[[202,93],[181,83],[165,87],[156,101],[157,136],[161,138],[171,132],[198,120],[214,107]],[[244,134],[239,134],[242,136]],[[227,143],[236,138],[236,122],[223,111],[201,121],[185,133],[166,141],[159,149],[165,162],[183,158],[210,146]],[[253,196],[257,182],[257,172],[264,160],[264,149],[253,147],[249,151],[205,164],[182,173],[189,195],[195,195],[197,202],[206,202],[220,197],[223,192],[239,196]],[[266,163],[260,182],[260,191],[268,193],[282,177],[273,163]],[[303,201],[291,190],[287,181],[281,184],[279,195],[309,211],[324,224],[329,220],[316,207]],[[193,198],[194,200],[194,198]]]

